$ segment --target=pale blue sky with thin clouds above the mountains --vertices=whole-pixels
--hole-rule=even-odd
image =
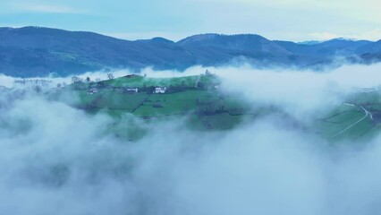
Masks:
[[[257,33],[268,39],[381,39],[379,0],[2,0],[0,26],[90,30],[123,39]]]

